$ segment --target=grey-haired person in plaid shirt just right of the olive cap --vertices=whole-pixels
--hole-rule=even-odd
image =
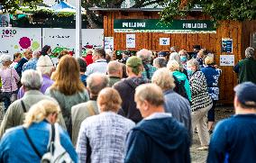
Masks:
[[[142,64],[144,67],[144,70],[142,72],[142,77],[150,80],[154,72],[157,70],[157,68],[151,65],[151,55],[152,55],[151,50],[143,49],[137,52],[137,57],[142,59]]]

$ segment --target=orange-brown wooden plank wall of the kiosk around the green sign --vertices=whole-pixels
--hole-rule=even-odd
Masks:
[[[126,34],[114,33],[114,19],[158,19],[158,13],[153,12],[106,12],[104,13],[104,35],[105,37],[114,37],[114,50],[126,49]],[[187,20],[207,20],[209,16],[197,13],[187,16]],[[235,63],[242,59],[242,23],[225,21],[217,28],[215,34],[168,34],[168,33],[135,33],[136,48],[129,50],[154,50],[169,51],[171,46],[178,46],[179,50],[192,51],[193,45],[201,45],[206,50],[211,50],[215,54],[215,62],[220,63],[222,38],[233,39],[233,55]],[[248,24],[243,24],[248,25]],[[255,27],[253,28],[255,30]],[[250,31],[250,30],[249,30]],[[160,46],[160,38],[170,38],[169,46]],[[223,74],[220,78],[220,103],[233,103],[233,86],[237,85],[236,75],[233,73],[233,67],[220,67]]]

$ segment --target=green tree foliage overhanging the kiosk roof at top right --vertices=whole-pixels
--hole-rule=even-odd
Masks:
[[[175,16],[186,16],[195,6],[202,7],[214,21],[244,21],[256,19],[256,0],[165,0],[168,5],[160,16],[170,21]]]

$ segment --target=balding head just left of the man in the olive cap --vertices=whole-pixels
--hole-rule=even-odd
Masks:
[[[109,77],[122,77],[123,67],[117,60],[110,61],[107,64],[107,74]]]

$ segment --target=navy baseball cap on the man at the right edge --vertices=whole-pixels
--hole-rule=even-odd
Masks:
[[[244,82],[233,88],[239,102],[245,106],[256,107],[256,85]]]

